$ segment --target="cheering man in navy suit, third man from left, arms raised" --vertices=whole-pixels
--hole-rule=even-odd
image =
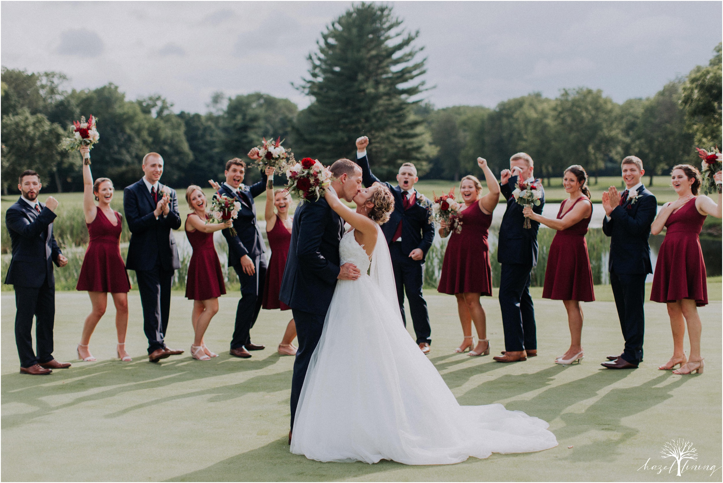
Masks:
[[[256,158],[256,151],[256,148],[252,149],[249,157]],[[236,325],[229,354],[245,359],[251,357],[249,351],[265,349],[265,346],[251,343],[249,331],[261,310],[266,279],[266,246],[256,221],[254,198],[266,191],[267,176],[262,173],[261,181],[246,186],[242,182],[246,163],[239,158],[228,161],[223,174],[226,176],[223,184],[218,186],[212,183],[218,186],[218,194],[235,198],[241,203],[239,215],[234,220],[236,236],[231,236],[230,229],[221,231],[228,242],[228,266],[236,270],[241,281],[241,299],[236,308]]]

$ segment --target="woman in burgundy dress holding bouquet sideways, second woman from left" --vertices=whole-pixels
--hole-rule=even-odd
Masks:
[[[221,262],[218,261],[213,245],[213,232],[230,228],[233,221],[208,223],[206,195],[195,184],[186,190],[186,202],[193,210],[187,216],[184,226],[188,242],[193,248],[186,279],[186,298],[193,300],[191,323],[195,336],[191,345],[191,356],[200,361],[208,361],[218,354],[208,350],[203,341],[203,334],[218,312],[218,297],[226,294]]]

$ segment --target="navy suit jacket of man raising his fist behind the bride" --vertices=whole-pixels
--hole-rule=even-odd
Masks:
[[[389,221],[382,225],[382,231],[387,239],[387,243],[392,242],[392,237],[396,233],[399,222],[401,221],[402,252],[408,255],[413,249],[419,248],[424,254],[422,260],[419,260],[419,263],[424,263],[424,257],[427,257],[427,251],[429,251],[429,247],[432,247],[432,242],[435,239],[435,223],[430,217],[432,214],[432,203],[415,189],[416,202],[405,210],[402,189],[399,185],[393,187],[390,183],[380,181],[377,176],[374,176],[372,170],[369,168],[369,159],[367,156],[357,159],[356,163],[361,168],[361,181],[365,187],[368,188],[375,182],[378,182],[385,184],[392,192],[392,195],[394,195],[394,211],[391,213]],[[409,260],[411,260],[411,258]]]

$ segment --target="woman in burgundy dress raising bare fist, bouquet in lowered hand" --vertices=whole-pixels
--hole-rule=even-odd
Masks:
[[[492,211],[500,200],[500,185],[487,161],[477,158],[477,164],[484,172],[489,192],[482,196],[482,184],[475,176],[464,176],[459,184],[459,192],[464,206],[460,219],[462,230],[454,231],[445,250],[442,262],[442,275],[437,291],[454,295],[457,298],[457,312],[462,324],[464,340],[455,352],[470,349],[470,356],[487,356],[487,315],[484,313],[479,297],[492,296],[492,268],[489,265],[489,243],[487,230],[492,223]],[[447,223],[440,223],[440,236],[450,233]],[[472,322],[477,330],[477,345],[474,347]],[[474,350],[472,350],[474,347]]]

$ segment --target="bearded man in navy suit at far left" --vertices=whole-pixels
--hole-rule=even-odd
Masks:
[[[20,356],[20,373],[45,375],[52,369],[66,369],[67,362],[53,357],[55,322],[55,278],[53,264],[64,267],[68,259],[53,236],[58,200],[38,201],[40,176],[28,169],[20,174],[17,189],[22,196],[5,213],[10,234],[12,259],[5,283],[15,290],[15,343]],[[38,355],[33,352],[33,316]]]

